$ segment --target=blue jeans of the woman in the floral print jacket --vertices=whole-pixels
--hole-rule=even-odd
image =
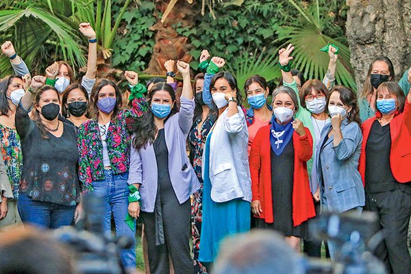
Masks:
[[[121,251],[121,261],[126,269],[136,268],[136,238],[135,232],[125,223],[127,208],[129,205],[127,188],[128,172],[114,175],[111,169],[104,170],[105,179],[92,182],[93,195],[103,198],[105,212],[104,229],[111,232],[111,216],[114,216],[116,236],[127,236],[133,240],[131,249]]]

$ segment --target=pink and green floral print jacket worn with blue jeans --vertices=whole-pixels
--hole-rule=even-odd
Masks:
[[[147,111],[147,101],[144,98],[134,99],[132,110],[121,110],[119,114],[112,117],[105,141],[114,174],[124,173],[129,169],[132,123],[145,111]],[[93,190],[93,181],[105,179],[103,142],[97,119],[90,119],[80,125],[77,130],[77,147],[79,179],[84,185],[84,190]]]

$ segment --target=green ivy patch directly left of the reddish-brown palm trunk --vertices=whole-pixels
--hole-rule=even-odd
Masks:
[[[114,3],[119,1],[114,1]],[[153,46],[156,23],[153,1],[140,1],[138,7],[124,13],[123,22],[113,42],[112,65],[118,69],[143,71],[148,64]]]

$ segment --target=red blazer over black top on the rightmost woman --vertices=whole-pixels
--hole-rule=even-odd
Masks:
[[[369,138],[371,126],[375,119],[381,117],[377,112],[376,116],[367,119],[362,123],[362,147],[360,154],[360,163],[358,170],[362,177],[362,183],[365,185],[365,147]],[[404,111],[397,114],[390,121],[391,151],[390,167],[394,178],[400,183],[411,182],[411,102],[406,99]],[[377,166],[375,167],[377,168]]]

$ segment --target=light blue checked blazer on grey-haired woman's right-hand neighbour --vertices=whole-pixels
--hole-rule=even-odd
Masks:
[[[321,200],[325,197],[328,210],[341,213],[365,203],[364,186],[358,171],[362,132],[357,123],[344,119],[341,123],[343,140],[334,147],[334,136],[325,140],[330,129],[331,123],[325,125],[319,142],[321,147],[316,150],[317,176]]]

